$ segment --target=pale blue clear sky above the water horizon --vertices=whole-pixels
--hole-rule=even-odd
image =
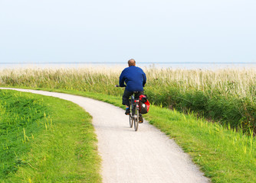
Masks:
[[[0,0],[0,63],[256,63],[255,0]]]

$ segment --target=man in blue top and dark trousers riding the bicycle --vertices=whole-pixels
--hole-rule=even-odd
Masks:
[[[133,92],[138,92],[135,98],[139,98],[139,95],[143,95],[143,87],[146,84],[146,74],[143,72],[143,69],[136,67],[134,59],[128,61],[128,66],[126,69],[123,69],[119,80],[120,87],[126,87],[123,92],[123,105],[126,105],[126,115],[130,114],[130,96],[133,95]],[[139,123],[143,123],[143,116],[141,114],[139,114]]]

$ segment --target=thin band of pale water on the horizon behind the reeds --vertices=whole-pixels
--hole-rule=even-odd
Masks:
[[[256,69],[256,63],[136,63],[141,68],[157,69]],[[127,63],[0,63],[0,69],[78,69],[78,68],[125,68]]]

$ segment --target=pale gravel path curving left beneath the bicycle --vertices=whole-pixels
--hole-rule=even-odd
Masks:
[[[130,128],[128,117],[121,108],[76,95],[15,90],[63,98],[90,113],[103,159],[101,174],[104,183],[209,182],[173,140],[147,121],[139,124],[137,132]]]

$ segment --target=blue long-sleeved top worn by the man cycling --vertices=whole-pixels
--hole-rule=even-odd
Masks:
[[[145,84],[146,74],[143,72],[143,69],[136,66],[130,66],[123,69],[119,79],[120,87],[126,86],[128,92],[143,92]]]

